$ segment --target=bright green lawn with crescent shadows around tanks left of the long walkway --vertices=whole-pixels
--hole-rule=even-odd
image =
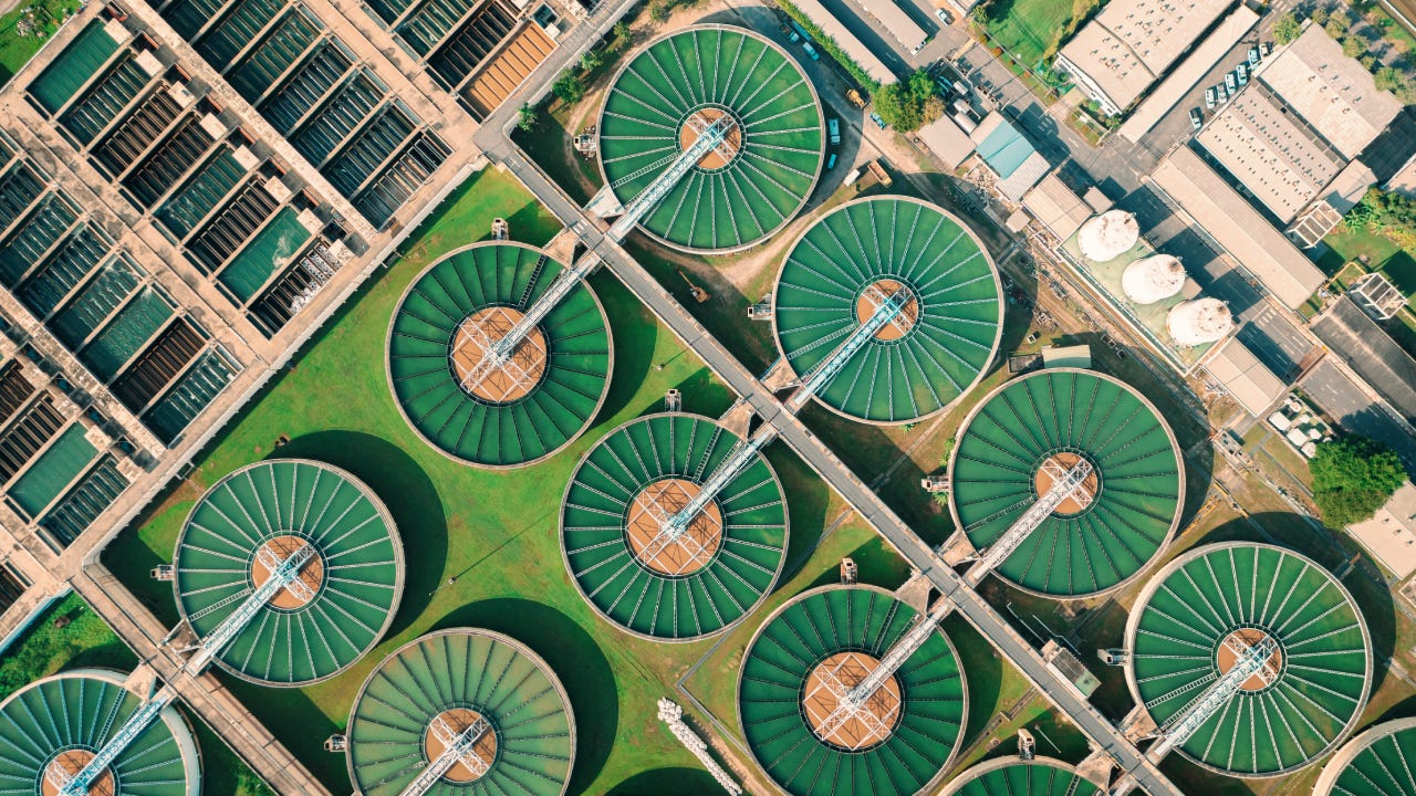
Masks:
[[[384,340],[398,297],[440,252],[489,235],[496,215],[517,239],[544,244],[555,222],[520,184],[483,171],[460,188],[418,242],[367,285],[265,397],[246,409],[188,479],[150,516],[122,534],[105,562],[166,622],[171,592],[147,571],[171,559],[183,518],[222,474],[273,452],[309,456],[351,470],[388,504],[408,559],[406,586],[385,640],[348,671],[300,690],[272,691],[225,677],[272,732],[329,788],[348,792],[344,758],[320,744],[341,729],[370,670],[396,646],[433,629],[479,626],[520,639],[547,659],[569,693],[579,746],[571,790],[606,793],[633,775],[695,766],[656,720],[656,700],[712,642],[657,644],[632,639],[599,619],[569,582],[556,534],[559,499],[581,455],[609,429],[658,411],[671,387],[685,409],[719,414],[726,390],[609,273],[592,278],[612,319],[615,374],[595,425],[565,452],[514,472],[479,470],[423,445],[394,405],[384,375]],[[663,365],[657,370],[654,365]],[[331,390],[331,387],[337,388]],[[789,496],[787,559],[814,547],[840,499],[790,450],[767,456]],[[456,576],[453,585],[449,578]],[[745,625],[756,625],[749,618]],[[637,788],[637,786],[636,786]]]

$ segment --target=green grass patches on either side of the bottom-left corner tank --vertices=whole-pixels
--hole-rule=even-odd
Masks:
[[[68,625],[54,622],[68,618]],[[103,620],[75,592],[69,592],[40,615],[0,659],[0,700],[23,686],[74,669],[130,671],[137,656],[113,635]],[[191,720],[191,714],[187,714]],[[255,773],[200,721],[191,721],[201,749],[202,782],[207,796],[273,796]]]

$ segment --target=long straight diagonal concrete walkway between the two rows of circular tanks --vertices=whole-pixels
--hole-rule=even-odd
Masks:
[[[486,127],[484,127],[486,130]],[[1116,763],[1130,772],[1141,788],[1153,796],[1181,796],[1180,790],[1147,761],[1134,745],[1117,732],[1096,708],[1066,680],[1052,673],[1032,646],[993,609],[964,579],[926,547],[885,503],[871,491],[844,462],[841,462],[801,421],[787,412],[728,350],[639,262],[613,241],[605,238],[581,208],[565,195],[525,154],[506,139],[493,136],[479,140],[483,152],[496,163],[511,170],[541,201],[571,228],[581,231],[582,241],[598,254],[605,265],[654,314],[698,354],[728,387],[743,397],[763,422],[776,428],[782,440],[790,445],[831,487],[841,494],[891,545],[957,606],[959,612],[994,647],[1011,660],[1037,684],[1052,704],[1104,749]]]

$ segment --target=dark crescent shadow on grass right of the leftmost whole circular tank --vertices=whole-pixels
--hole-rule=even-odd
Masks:
[[[438,487],[398,446],[354,431],[297,436],[272,457],[316,459],[343,467],[368,484],[394,517],[404,544],[404,596],[388,635],[423,613],[447,559],[447,517]]]

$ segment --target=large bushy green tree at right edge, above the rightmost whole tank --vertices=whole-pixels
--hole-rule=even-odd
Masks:
[[[1330,527],[1361,523],[1406,480],[1396,452],[1368,436],[1320,442],[1308,460],[1313,500]]]

